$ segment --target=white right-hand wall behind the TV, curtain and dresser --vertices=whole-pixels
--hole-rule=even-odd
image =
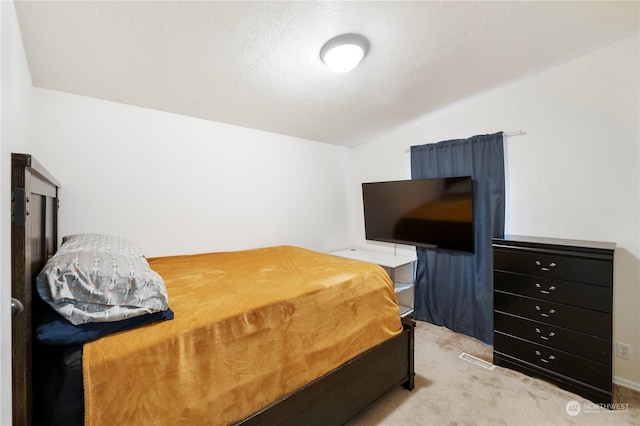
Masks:
[[[640,389],[639,40],[633,37],[424,116],[354,153],[350,229],[364,240],[360,183],[410,177],[412,145],[523,130],[506,139],[507,233],[617,243],[614,357]],[[376,249],[391,250],[377,244]]]

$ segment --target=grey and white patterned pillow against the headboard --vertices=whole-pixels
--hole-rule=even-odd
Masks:
[[[164,280],[130,248],[59,250],[36,278],[40,297],[74,325],[133,318],[168,308]],[[116,253],[117,252],[117,253]]]

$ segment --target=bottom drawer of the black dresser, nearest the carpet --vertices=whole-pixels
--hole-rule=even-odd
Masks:
[[[611,366],[495,332],[494,351],[600,389],[612,390]]]

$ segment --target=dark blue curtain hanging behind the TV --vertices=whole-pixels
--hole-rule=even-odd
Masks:
[[[493,344],[491,238],[504,234],[502,133],[411,147],[413,179],[471,176],[475,253],[416,248],[414,317]]]

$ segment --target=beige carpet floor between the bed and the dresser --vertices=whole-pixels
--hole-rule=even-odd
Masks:
[[[545,381],[458,358],[466,352],[492,362],[492,348],[474,338],[421,321],[415,336],[415,389],[392,390],[349,426],[640,426],[638,392],[616,386],[617,409],[603,409]]]

